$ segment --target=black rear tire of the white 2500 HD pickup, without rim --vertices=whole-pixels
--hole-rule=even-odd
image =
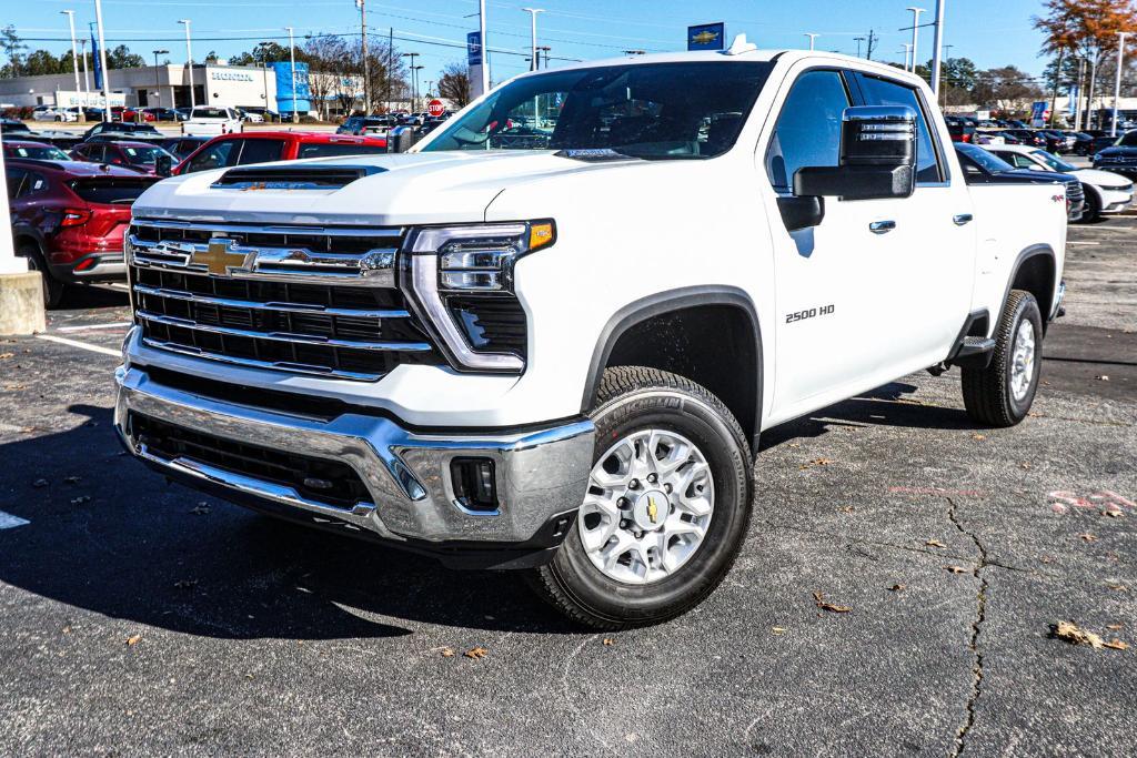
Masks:
[[[1015,339],[1020,325],[1034,327],[1035,353],[1030,384],[1021,398],[1011,389]],[[963,369],[963,405],[972,420],[986,426],[1014,426],[1030,411],[1043,368],[1043,317],[1035,295],[1012,290],[995,328],[995,351],[986,368]]]

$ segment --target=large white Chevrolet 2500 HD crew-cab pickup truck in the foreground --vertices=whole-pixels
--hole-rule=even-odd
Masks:
[[[1064,190],[969,186],[933,102],[737,42],[521,75],[404,155],[163,181],[116,427],[264,513],[524,569],[582,623],[673,617],[742,545],[764,430],[951,367],[976,423],[1027,416]]]

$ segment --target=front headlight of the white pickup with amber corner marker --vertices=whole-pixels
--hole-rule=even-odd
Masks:
[[[516,373],[525,367],[525,315],[513,294],[514,266],[554,242],[556,225],[549,219],[413,232],[402,286],[456,368]],[[504,320],[513,341],[492,339],[480,323],[485,319]]]

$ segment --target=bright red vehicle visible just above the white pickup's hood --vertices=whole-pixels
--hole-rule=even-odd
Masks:
[[[387,152],[387,139],[325,132],[242,132],[223,134],[191,152],[174,169],[192,174],[210,168],[267,164],[273,160],[366,156]]]

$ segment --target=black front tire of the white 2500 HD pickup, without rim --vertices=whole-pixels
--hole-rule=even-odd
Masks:
[[[711,594],[746,539],[753,500],[749,444],[721,400],[682,376],[654,368],[605,370],[590,416],[597,428],[594,461],[615,440],[637,430],[665,428],[690,440],[711,469],[713,517],[697,551],[658,582],[625,584],[606,576],[589,559],[576,527],[550,564],[530,573],[530,582],[562,613],[595,628],[674,618]]]

